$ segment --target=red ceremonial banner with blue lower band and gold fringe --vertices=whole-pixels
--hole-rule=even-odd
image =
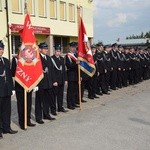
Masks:
[[[79,25],[78,59],[80,60],[80,69],[92,77],[96,69],[82,18]]]

